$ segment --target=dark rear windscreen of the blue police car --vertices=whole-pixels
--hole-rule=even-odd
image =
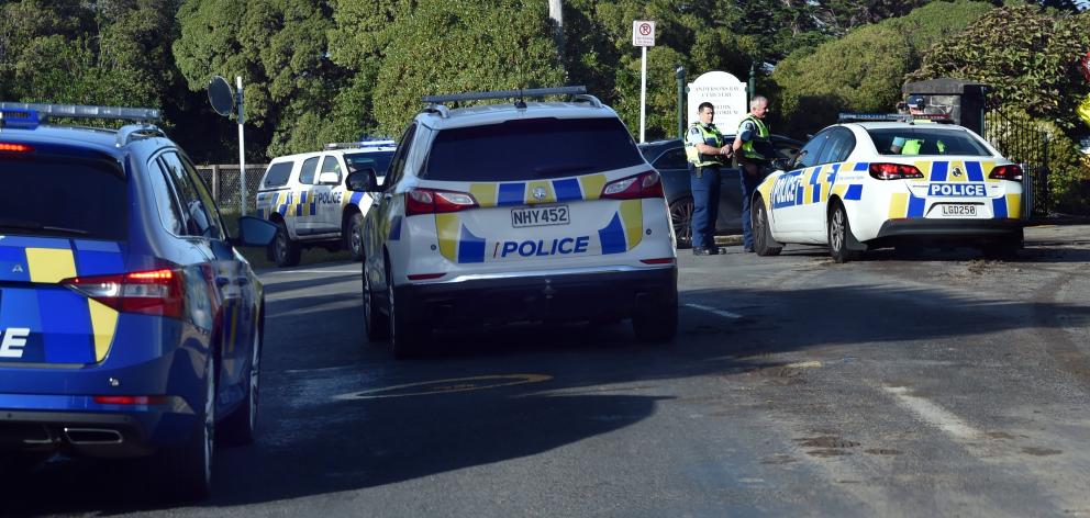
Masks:
[[[0,156],[0,235],[127,239],[129,188],[116,165]]]

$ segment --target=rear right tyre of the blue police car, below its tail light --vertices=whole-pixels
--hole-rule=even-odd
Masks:
[[[183,502],[207,498],[212,492],[212,459],[215,454],[215,369],[214,354],[209,352],[204,375],[203,406],[198,413],[192,433],[178,448],[167,448],[156,455],[156,468],[163,477],[163,488]]]

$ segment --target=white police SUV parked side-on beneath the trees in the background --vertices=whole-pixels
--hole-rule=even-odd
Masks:
[[[301,249],[313,246],[346,248],[359,260],[360,224],[371,199],[348,192],[344,180],[365,167],[381,179],[393,149],[393,140],[330,144],[322,151],[269,162],[257,191],[257,212],[280,228],[269,245],[269,260],[294,266]]]

